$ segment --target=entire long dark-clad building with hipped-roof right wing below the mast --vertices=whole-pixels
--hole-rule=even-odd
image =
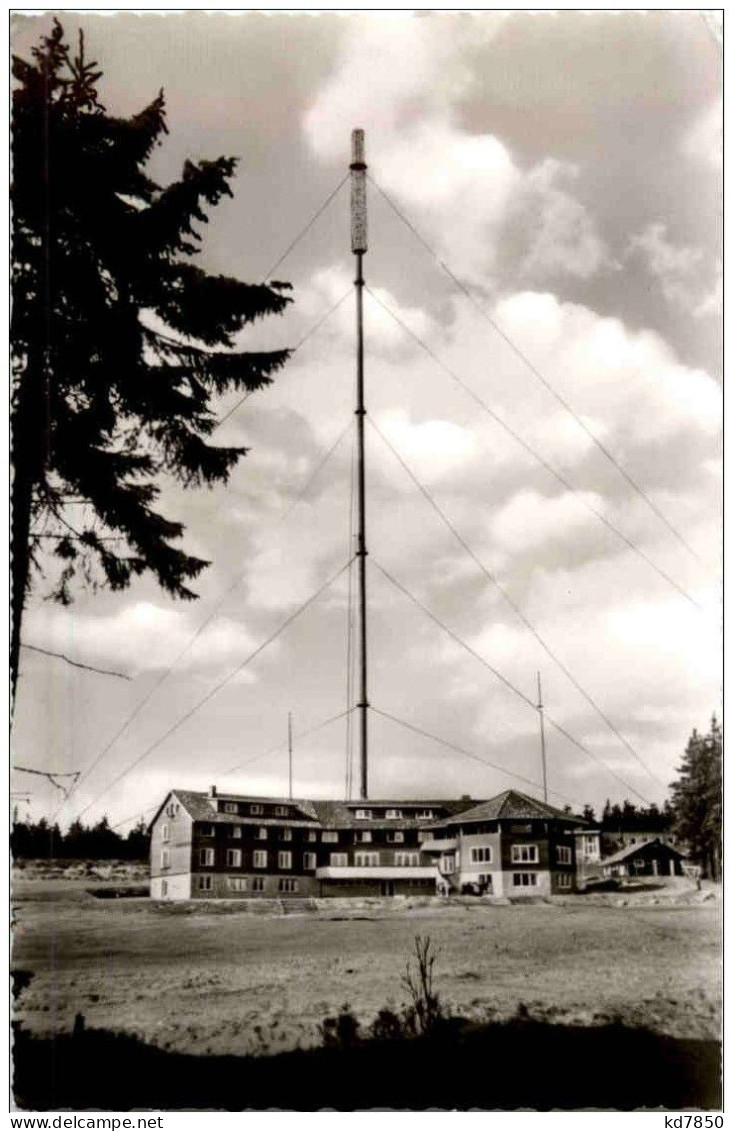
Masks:
[[[172,791],[150,824],[155,899],[575,889],[584,822],[524,794],[492,801],[294,801]]]

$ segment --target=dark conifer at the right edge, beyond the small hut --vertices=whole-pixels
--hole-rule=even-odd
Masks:
[[[709,734],[692,731],[680,777],[671,785],[673,830],[714,880],[721,878],[723,843],[723,735],[715,715]]]

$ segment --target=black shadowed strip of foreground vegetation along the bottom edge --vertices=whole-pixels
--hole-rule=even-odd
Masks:
[[[388,1027],[387,1027],[388,1028]],[[129,1111],[279,1107],[719,1110],[721,1046],[623,1026],[459,1019],[412,1039],[276,1056],[193,1056],[104,1029],[15,1033],[19,1107]]]

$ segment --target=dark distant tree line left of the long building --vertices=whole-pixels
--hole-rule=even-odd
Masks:
[[[10,851],[15,860],[133,860],[147,863],[150,835],[140,818],[127,836],[110,828],[106,817],[96,824],[74,821],[67,832],[45,817],[36,823],[14,821]]]

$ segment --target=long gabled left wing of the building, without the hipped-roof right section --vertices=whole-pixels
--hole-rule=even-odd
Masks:
[[[155,899],[434,895],[422,830],[456,801],[293,801],[174,789],[150,826]]]

